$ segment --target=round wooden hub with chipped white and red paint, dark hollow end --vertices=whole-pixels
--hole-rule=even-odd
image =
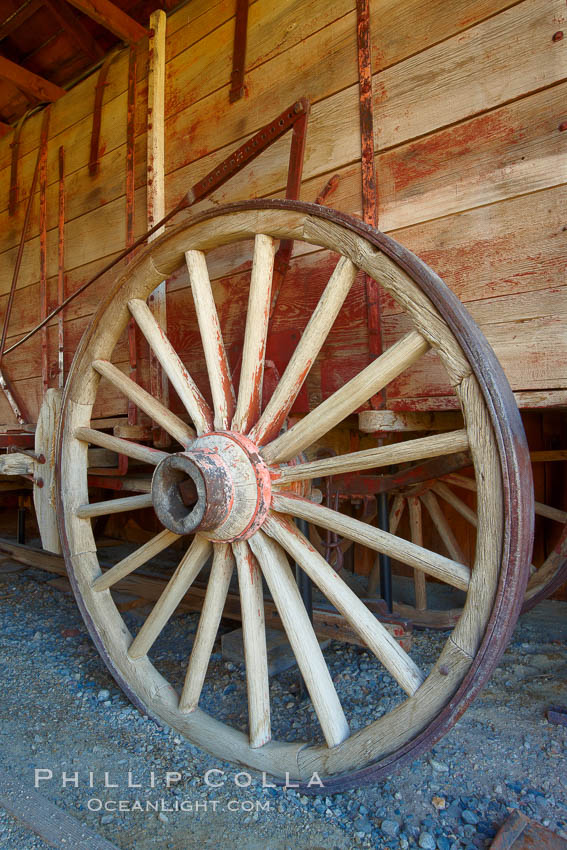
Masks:
[[[198,437],[189,451],[169,455],[152,478],[154,510],[175,534],[211,540],[251,537],[271,501],[270,472],[251,440],[232,431]]]

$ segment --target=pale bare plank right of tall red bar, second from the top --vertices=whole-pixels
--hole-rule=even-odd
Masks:
[[[562,0],[524,0],[375,75],[377,148],[424,136],[563,79],[567,44],[552,40],[561,21]],[[448,61],[455,56],[458,62]]]

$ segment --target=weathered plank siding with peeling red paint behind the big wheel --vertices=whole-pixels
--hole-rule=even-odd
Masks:
[[[166,210],[266,120],[307,96],[312,103],[302,198],[313,201],[337,174],[328,203],[361,214],[360,135],[354,0],[251,0],[246,94],[228,91],[234,0],[192,0],[168,18],[166,75]],[[567,403],[565,206],[567,25],[564,0],[372,0],[373,101],[381,229],[436,269],[463,299],[496,349],[525,405]],[[108,75],[102,113],[103,155],[95,177],[88,158],[96,74],[52,107],[48,143],[48,289],[56,303],[58,150],[65,149],[67,292],[125,245],[126,97],[128,55]],[[145,229],[147,47],[138,59],[135,231]],[[20,145],[20,203],[8,214],[10,144],[0,140],[0,315],[21,233],[37,156],[41,115],[30,118]],[[282,195],[289,136],[200,206]],[[308,307],[332,268],[332,257],[298,256],[282,292],[269,356],[280,369]],[[303,253],[302,253],[303,252]],[[213,263],[221,321],[233,362],[242,342],[246,303],[244,255],[220,252]],[[238,266],[240,278],[222,279]],[[65,315],[70,363],[105,284],[94,286]],[[181,270],[169,283],[173,341],[189,358],[197,346]],[[9,342],[39,319],[39,204],[26,242]],[[387,299],[386,344],[406,328]],[[182,317],[182,318],[178,318]],[[366,362],[365,299],[355,286],[345,319],[323,350],[297,410],[332,392]],[[354,330],[354,332],[353,332]],[[141,345],[141,344],[140,344]],[[49,332],[56,383],[56,328]],[[115,360],[127,368],[127,348]],[[144,380],[147,352],[140,352]],[[323,367],[323,368],[322,368]],[[3,368],[30,418],[41,400],[39,340]],[[206,381],[202,368],[197,380]],[[400,408],[444,408],[454,402],[444,376],[427,358],[390,392]],[[107,389],[98,413],[123,412]],[[12,414],[0,398],[0,421]]]

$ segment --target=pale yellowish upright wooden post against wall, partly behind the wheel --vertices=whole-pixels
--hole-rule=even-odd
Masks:
[[[148,126],[147,126],[147,224],[153,227],[165,215],[165,36],[166,14],[158,9],[150,15],[149,70],[148,70]],[[155,239],[164,227],[150,237]],[[157,286],[148,299],[154,317],[167,333],[167,289],[165,280]],[[150,392],[169,408],[167,375],[154,352],[150,350]],[[169,436],[162,428],[154,428],[155,445],[165,447]]]

